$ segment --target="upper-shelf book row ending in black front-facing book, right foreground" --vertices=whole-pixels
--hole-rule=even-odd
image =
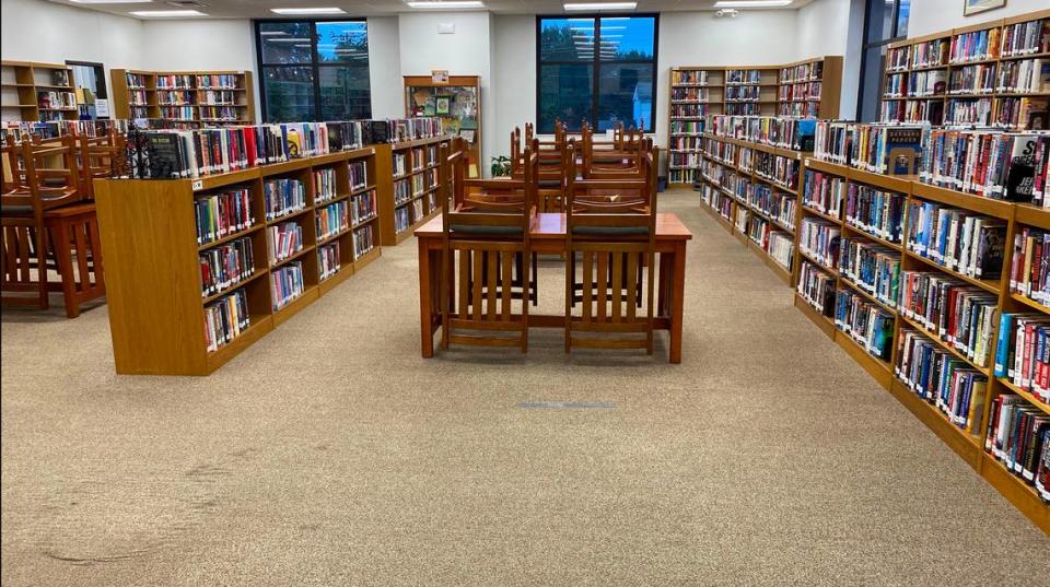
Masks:
[[[952,271],[998,280],[1003,270],[1006,221],[940,203],[908,203],[908,250]]]

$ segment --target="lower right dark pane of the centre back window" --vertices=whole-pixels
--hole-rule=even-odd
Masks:
[[[653,68],[648,63],[603,63],[598,78],[598,130],[616,122],[651,128]]]

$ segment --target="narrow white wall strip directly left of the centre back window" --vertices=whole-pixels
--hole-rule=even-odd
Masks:
[[[510,134],[514,127],[524,131],[526,122],[536,124],[536,16],[514,14],[495,16],[492,84],[495,102],[495,143],[493,155],[510,155]]]

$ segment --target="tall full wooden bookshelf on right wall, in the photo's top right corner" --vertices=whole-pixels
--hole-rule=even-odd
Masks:
[[[1037,110],[1046,110],[1050,102],[1050,86],[1043,84],[1034,91],[1011,91],[999,85],[1000,75],[1018,62],[1050,58],[1048,52],[1003,55],[1003,30],[1011,25],[1050,20],[1050,9],[1029,12],[1010,19],[1000,19],[949,28],[921,37],[913,37],[887,47],[883,71],[879,119],[884,122],[924,122],[955,126],[996,126],[1011,130],[1028,128],[1027,120],[1006,121],[1012,107],[1019,101],[1035,101]],[[1045,24],[1046,26],[1046,24]],[[991,32],[998,35],[999,46],[990,49],[991,56],[975,60],[953,59],[953,39],[967,33]],[[935,50],[938,48],[940,50]],[[931,56],[937,56],[936,59]],[[991,78],[991,85],[980,87],[964,85],[964,78],[982,75]],[[1038,73],[1036,74],[1038,79]],[[943,84],[943,89],[940,87]],[[988,109],[987,119],[965,119],[953,116],[954,106]],[[1001,120],[1001,115],[1003,120]]]

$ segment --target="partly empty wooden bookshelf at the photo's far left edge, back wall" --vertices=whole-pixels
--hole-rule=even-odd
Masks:
[[[66,64],[0,61],[0,98],[3,121],[80,119],[73,70]]]

